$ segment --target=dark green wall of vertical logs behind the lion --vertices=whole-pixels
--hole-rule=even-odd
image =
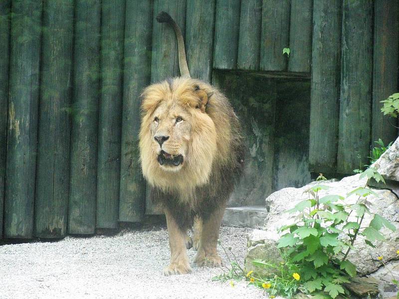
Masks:
[[[398,88],[397,0],[3,0],[0,238],[143,220],[139,95],[179,75],[161,10],[185,34],[193,77],[311,78],[311,171],[351,173],[397,136],[379,112]]]

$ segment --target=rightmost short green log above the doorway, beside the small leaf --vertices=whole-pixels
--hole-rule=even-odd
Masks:
[[[289,72],[310,72],[313,0],[291,0]]]

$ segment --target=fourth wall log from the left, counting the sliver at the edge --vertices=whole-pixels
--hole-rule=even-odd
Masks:
[[[95,230],[100,20],[100,0],[76,0],[69,234],[93,234]]]

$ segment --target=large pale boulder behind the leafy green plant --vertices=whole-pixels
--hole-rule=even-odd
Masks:
[[[329,186],[329,189],[321,190],[319,196],[338,194],[346,197],[353,189],[365,186],[367,179],[360,179],[359,176],[360,174],[357,174],[345,177],[340,181],[324,181],[322,184]],[[280,238],[280,235],[277,233],[278,228],[286,224],[298,222],[296,215],[286,213],[285,211],[293,208],[298,202],[308,199],[309,195],[304,191],[315,184],[316,182],[312,182],[301,188],[284,188],[266,198],[268,213],[264,224],[265,239],[278,240]],[[390,190],[373,189],[373,191],[377,195],[368,196],[371,212],[380,214],[399,228],[398,197]],[[355,203],[357,199],[356,195],[351,195],[345,199],[345,202]],[[362,226],[368,225],[371,220],[372,216],[366,214]],[[387,239],[384,242],[375,242],[376,248],[366,245],[362,236],[359,236],[355,242],[354,249],[351,250],[348,259],[357,265],[357,271],[360,276],[373,273],[381,267],[381,262],[377,259],[378,256],[383,255],[387,262],[397,257],[399,231],[383,230],[383,232],[386,234]],[[250,242],[252,242],[251,238]],[[259,244],[259,240],[256,242]]]

